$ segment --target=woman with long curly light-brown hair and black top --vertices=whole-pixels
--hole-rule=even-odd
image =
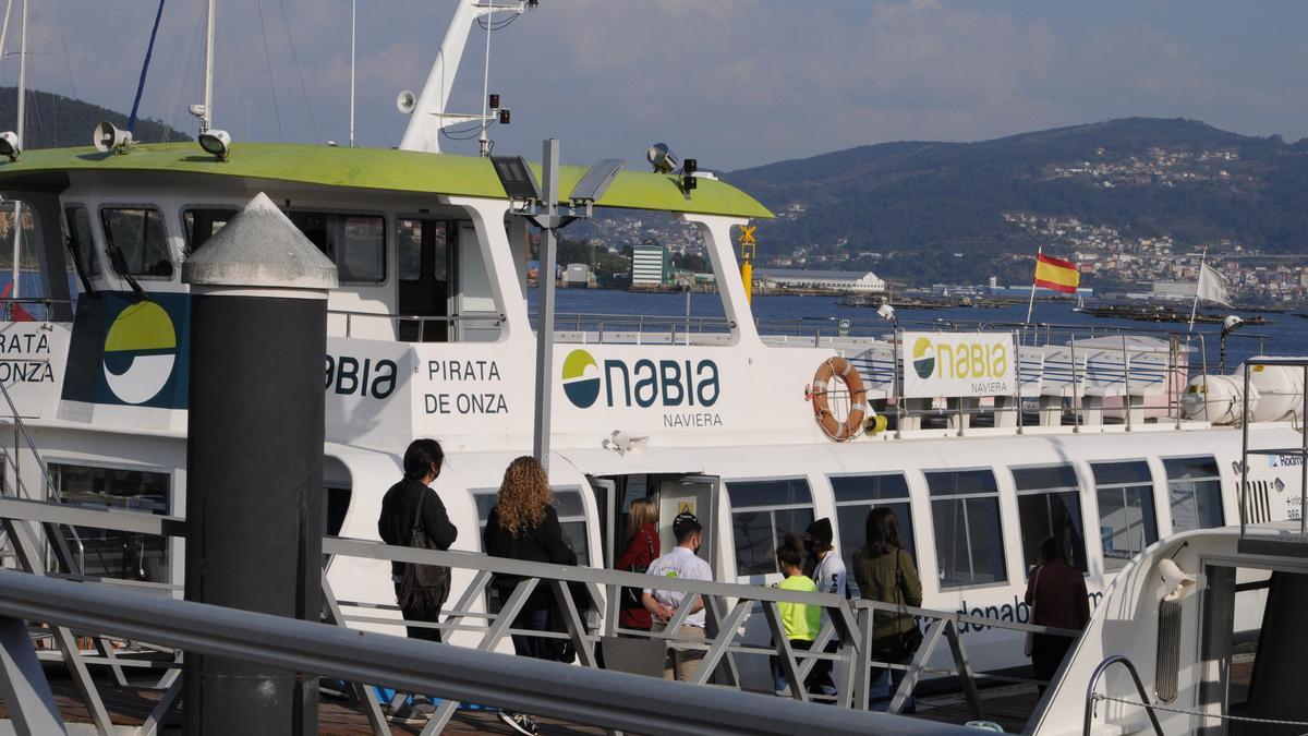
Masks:
[[[535,457],[522,456],[510,462],[509,469],[504,471],[504,483],[500,485],[496,506],[487,517],[487,528],[481,537],[485,553],[528,562],[577,564],[576,553],[564,541],[553,500],[549,479]],[[508,601],[519,581],[522,578],[517,575],[496,575],[490,584],[498,592],[500,600]],[[553,606],[553,592],[545,581],[540,581],[513,619],[513,627],[547,631],[549,610]],[[556,659],[556,647],[551,644],[552,640],[544,636],[513,635],[513,650],[519,656]],[[536,724],[530,715],[501,711],[500,718],[522,733],[536,732]]]

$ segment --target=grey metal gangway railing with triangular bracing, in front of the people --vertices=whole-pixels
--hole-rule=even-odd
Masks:
[[[77,524],[178,537],[184,536],[186,528],[184,520],[171,516],[116,509],[94,511],[21,499],[0,499],[0,523],[3,523],[4,528],[12,536],[24,540],[22,549],[25,554],[20,555],[20,559],[24,562],[24,568],[35,575],[44,574],[39,564],[30,567],[27,564],[30,555],[38,550],[35,536],[30,533],[30,524],[33,523],[38,524],[38,530],[47,524]],[[606,677],[612,671],[658,676],[662,673],[662,663],[668,648],[700,651],[704,652],[704,656],[692,684],[706,685],[712,682],[722,686],[697,689],[712,693],[751,689],[751,682],[746,681],[751,671],[746,671],[744,667],[747,664],[755,665],[752,672],[756,673],[760,668],[765,669],[768,667],[770,657],[774,657],[777,661],[780,672],[785,676],[787,684],[808,682],[814,668],[819,663],[827,663],[831,667],[832,681],[836,688],[835,695],[810,695],[806,686],[794,685],[787,685],[785,690],[777,693],[769,684],[765,690],[782,697],[763,698],[757,702],[785,699],[811,702],[820,699],[838,706],[829,710],[849,714],[852,718],[859,719],[863,718],[863,711],[872,702],[874,686],[876,686],[876,682],[872,682],[874,668],[875,671],[901,669],[905,672],[905,677],[897,690],[884,694],[886,699],[888,699],[888,711],[892,714],[899,712],[909,702],[925,677],[956,677],[972,719],[984,718],[980,684],[1042,684],[1042,681],[1006,673],[977,671],[967,652],[968,642],[964,633],[969,629],[977,631],[985,629],[994,630],[990,634],[991,643],[995,635],[1006,636],[1014,651],[1022,650],[1023,639],[1028,633],[1070,638],[1080,635],[1079,631],[1073,630],[969,616],[954,610],[931,610],[879,601],[848,600],[842,596],[800,593],[765,585],[704,581],[685,578],[651,579],[647,575],[637,572],[600,570],[585,566],[531,563],[466,551],[387,546],[369,540],[324,537],[323,553],[331,561],[327,563],[328,567],[324,570],[323,576],[323,617],[328,623],[351,627],[362,626],[374,631],[400,631],[404,626],[438,629],[442,633],[442,640],[451,643],[446,647],[437,647],[442,651],[466,651],[472,648],[481,652],[490,652],[496,648],[502,648],[501,644],[513,634],[542,636],[553,639],[560,644],[570,644],[576,652],[577,663],[583,669],[595,671],[603,667],[607,669],[603,673]],[[375,561],[378,563],[375,566],[377,575],[387,580],[386,588],[390,588],[390,567],[381,564],[383,562],[442,564],[450,567],[455,571],[455,585],[445,610],[442,610],[442,621],[439,623],[404,621],[391,600],[337,600],[328,581],[330,575],[327,570],[331,568],[330,566],[336,559],[343,558]],[[351,567],[360,568],[358,564],[352,564]],[[362,570],[366,570],[366,566]],[[497,587],[493,583],[497,576],[501,580],[514,580],[511,588],[502,589]],[[76,580],[76,576],[72,578]],[[98,580],[105,581],[102,579]],[[0,583],[0,598],[7,597],[3,593],[4,585],[4,583]],[[617,617],[621,589],[641,589],[654,585],[658,589],[684,593],[676,613],[658,631],[621,627]],[[110,587],[123,588],[123,585],[95,585],[95,588],[101,589]],[[131,583],[129,587],[135,588],[135,591],[124,591],[124,593],[140,593],[145,589],[141,583]],[[522,610],[531,593],[539,587],[548,587],[553,592],[560,613],[562,614],[561,618],[564,619],[561,631],[519,631],[514,629],[513,625],[517,614]],[[150,588],[167,591],[165,585],[152,585]],[[497,593],[501,592],[504,596],[498,597]],[[157,593],[153,593],[153,597],[157,598]],[[167,597],[165,596],[165,600]],[[705,612],[705,635],[702,638],[691,636],[684,633],[691,608],[698,598],[704,600]],[[174,601],[166,602],[171,604]],[[793,647],[786,638],[781,619],[781,606],[783,604],[820,606],[825,612],[820,633],[808,650]],[[152,604],[156,609],[160,605],[164,604]],[[194,640],[184,644],[175,644],[174,639],[169,636],[152,636],[153,631],[135,629],[112,629],[105,626],[106,622],[101,619],[88,621],[84,618],[72,621],[59,616],[46,618],[43,616],[33,616],[26,610],[14,613],[12,609],[5,609],[3,602],[0,602],[0,613],[20,616],[33,621],[46,621],[54,626],[52,635],[59,635],[60,631],[71,626],[78,631],[114,634],[116,636],[126,636],[133,642],[149,642],[154,646],[177,646],[181,650],[205,651],[187,646]],[[89,610],[86,616],[95,614]],[[883,617],[913,617],[917,625],[925,630],[921,647],[906,664],[883,661],[876,655],[872,639],[874,621],[880,621]],[[160,629],[160,631],[162,630],[166,630],[166,626]],[[26,638],[24,642],[26,643]],[[262,646],[260,642],[262,638],[254,642],[255,648]],[[409,642],[408,646],[415,647],[419,643]],[[426,646],[421,644],[421,647]],[[411,651],[426,652],[428,650],[412,648]],[[379,657],[375,661],[388,661],[388,657],[379,656],[375,651],[373,653],[374,657]],[[141,663],[133,661],[126,653],[119,652],[114,655],[112,651],[107,656],[102,653],[98,657],[88,657],[85,653],[72,650],[63,651],[61,656],[73,671],[78,668],[84,669],[89,664],[118,664],[126,669],[143,667]],[[14,655],[10,653],[10,661],[14,660],[13,657]],[[600,663],[602,659],[603,664]],[[441,672],[442,668],[438,667],[441,661],[443,660],[424,655],[425,672]],[[156,657],[156,661],[149,663],[148,667],[153,669],[162,667],[169,673],[156,686],[165,690],[165,693],[160,698],[154,714],[146,722],[158,723],[175,705],[181,693],[181,682],[175,674],[181,668],[181,657],[174,657],[171,663],[162,664]],[[513,667],[514,672],[518,673],[517,663]],[[353,682],[352,693],[358,706],[369,714],[375,733],[387,733],[387,731],[382,718],[382,707],[373,697],[373,691],[368,685],[395,684],[402,693],[398,693],[391,701],[392,707],[403,702],[404,693],[430,691],[446,698],[426,723],[424,732],[432,733],[439,732],[449,722],[460,699],[511,706],[515,710],[519,710],[519,707],[521,710],[528,710],[526,703],[521,702],[501,703],[497,699],[498,697],[490,691],[470,694],[468,690],[451,690],[447,684],[424,690],[421,686],[415,686],[412,680],[388,682],[385,678],[377,677],[378,671],[375,668],[366,673],[352,672],[348,676],[336,673],[335,671],[314,669],[313,667],[297,667],[294,669],[335,674]],[[590,677],[598,678],[600,673],[586,674],[587,682],[591,681]],[[615,682],[625,682],[621,676],[613,674],[613,677],[616,678],[613,680]],[[647,678],[641,680],[641,682],[649,681]],[[557,682],[555,684],[557,685]],[[680,688],[685,686],[681,685]],[[695,690],[683,689],[680,691],[689,694]],[[94,703],[101,702],[101,697],[94,684],[89,680],[86,681],[86,686],[82,688],[82,695],[88,701],[94,719],[94,714],[97,712]],[[642,698],[646,695],[647,691],[641,691]],[[740,695],[743,693],[734,694],[732,697]],[[698,695],[688,697],[697,698]],[[539,712],[543,715],[556,715],[557,711],[542,710]],[[683,708],[678,708],[676,712],[683,712]],[[751,708],[749,712],[759,711]],[[583,718],[572,712],[557,715],[560,718],[585,722]],[[602,722],[604,726],[615,723],[620,722],[616,719]],[[858,723],[863,728],[871,728],[874,732],[876,729],[875,720],[859,720]],[[940,724],[934,726],[938,727]],[[812,724],[808,724],[808,728],[811,727]],[[785,727],[780,723],[777,728],[785,731]],[[642,731],[670,732],[668,728],[650,731],[647,724]]]

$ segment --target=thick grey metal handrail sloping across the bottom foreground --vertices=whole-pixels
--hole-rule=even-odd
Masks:
[[[638,733],[968,733],[889,714],[693,688],[12,571],[0,571],[0,616]],[[25,638],[7,640],[5,648],[14,655],[9,661],[31,657],[30,646]],[[12,651],[18,647],[29,648]],[[39,668],[8,669],[7,674],[29,684],[44,677]],[[505,672],[514,676],[506,678]],[[58,708],[48,684],[42,684],[29,688],[27,698],[9,703],[20,719],[39,718],[43,708],[48,708],[44,723],[58,718],[51,715]],[[743,712],[752,718],[742,719]]]

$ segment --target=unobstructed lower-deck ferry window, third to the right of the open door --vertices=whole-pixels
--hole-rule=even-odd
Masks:
[[[940,588],[1008,579],[999,523],[999,487],[990,470],[926,473]]]

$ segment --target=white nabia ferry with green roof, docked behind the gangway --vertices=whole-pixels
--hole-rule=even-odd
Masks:
[[[399,149],[221,140],[215,153],[98,128],[98,147],[0,160],[0,195],[33,219],[46,295],[21,303],[34,321],[0,323],[0,380],[60,500],[186,515],[187,380],[204,367],[188,364],[182,265],[264,193],[339,270],[320,378],[328,534],[375,540],[405,445],[430,436],[449,457],[434,487],[459,528],[455,549],[480,551],[505,466],[531,451],[536,402],[527,225],[489,160],[437,152],[445,64],[456,65],[459,34],[484,8],[459,0]],[[561,189],[581,175],[564,166]],[[664,549],[671,520],[692,511],[715,576],[757,584],[780,579],[785,533],[832,519],[848,559],[867,512],[889,506],[925,608],[1024,621],[1027,572],[1049,536],[1097,600],[1158,540],[1298,513],[1295,458],[1250,466],[1254,492],[1239,506],[1232,399],[1202,377],[1188,384],[1190,354],[1176,340],[892,322],[865,335],[768,334],[732,245],[732,228],[770,217],[747,193],[712,175],[687,190],[678,173],[625,170],[595,207],[693,225],[723,318],[693,331],[629,317],[557,330],[549,477],[583,564],[612,563],[638,496],[655,499]],[[1260,447],[1295,447],[1303,385],[1269,386],[1245,428]],[[1291,409],[1273,410],[1273,397]],[[44,487],[35,462],[14,470]],[[182,583],[181,541],[84,545],[86,574]],[[328,580],[347,616],[386,616],[369,606],[394,600],[385,562],[336,558]],[[766,636],[761,621],[749,626]],[[978,668],[1027,663],[1016,636],[964,629]]]

